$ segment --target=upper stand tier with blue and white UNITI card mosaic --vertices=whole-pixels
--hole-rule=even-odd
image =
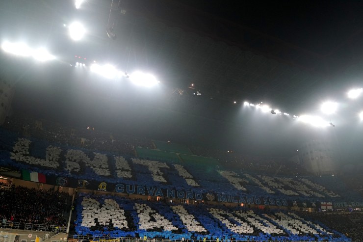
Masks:
[[[19,138],[3,129],[0,134],[1,146],[5,148],[0,150],[3,166],[45,175],[300,202],[340,202],[344,197],[354,201],[362,199],[358,192],[347,189],[338,176],[272,177],[245,170],[228,170],[215,164],[215,160],[203,157],[181,155],[182,161],[178,162],[150,161],[54,146],[37,139]]]

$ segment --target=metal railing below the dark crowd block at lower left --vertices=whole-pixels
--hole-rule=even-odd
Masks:
[[[5,223],[0,222],[0,228],[2,230],[12,229],[12,230],[29,230],[29,231],[57,231],[57,233],[65,233],[67,231],[66,227],[59,227],[57,225],[19,223],[11,221],[6,221]]]

